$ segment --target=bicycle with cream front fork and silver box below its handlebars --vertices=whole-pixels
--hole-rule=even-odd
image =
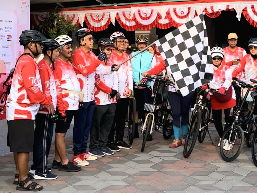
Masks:
[[[154,78],[149,75],[147,75],[146,77],[148,78],[149,81],[153,81],[153,80],[155,80],[155,82],[157,81],[158,86],[159,86],[160,82],[164,82],[166,84],[171,85],[171,82],[167,81],[167,80],[163,80],[160,78]],[[151,88],[148,85],[144,84],[144,86],[151,90]],[[144,110],[148,111],[148,114],[145,117],[145,122],[144,122],[144,125],[142,128],[142,131],[141,131],[143,133],[143,143],[142,143],[142,148],[141,148],[142,152],[145,149],[145,143],[146,143],[147,136],[152,134],[154,120],[155,120],[154,113],[160,108],[159,105],[156,105],[157,91],[158,91],[158,89],[155,92],[155,97],[154,97],[154,101],[152,102],[152,104],[145,103],[145,105],[144,105]],[[172,114],[171,114],[171,116],[173,117]],[[172,118],[172,120],[173,120],[173,118]]]

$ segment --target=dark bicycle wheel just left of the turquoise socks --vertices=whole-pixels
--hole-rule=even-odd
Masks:
[[[171,138],[171,135],[173,135],[173,115],[171,113],[171,110],[165,109],[163,111],[163,126],[162,126],[162,135],[164,139]]]

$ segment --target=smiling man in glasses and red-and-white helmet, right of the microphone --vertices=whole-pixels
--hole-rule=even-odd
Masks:
[[[110,39],[114,41],[114,51],[110,57],[110,60],[114,64],[121,64],[125,60],[129,59],[129,56],[123,52],[123,45],[126,46],[125,35],[121,32],[112,33]],[[123,43],[124,41],[124,43]],[[114,152],[120,151],[120,148],[130,149],[131,145],[128,145],[123,141],[125,120],[129,106],[129,97],[132,95],[133,90],[133,77],[132,77],[132,67],[130,61],[121,65],[119,71],[115,72],[118,78],[118,94],[116,95],[117,104],[115,117],[112,123],[112,130],[110,131],[108,137],[108,148]],[[114,142],[114,133],[115,142]]]

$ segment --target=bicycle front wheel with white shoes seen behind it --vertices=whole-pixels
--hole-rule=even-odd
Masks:
[[[226,141],[225,141],[226,140]],[[234,125],[224,131],[220,140],[220,155],[224,161],[234,161],[244,146],[244,133],[241,127]],[[228,148],[225,150],[224,148]]]

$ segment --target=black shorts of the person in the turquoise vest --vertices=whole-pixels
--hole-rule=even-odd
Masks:
[[[136,111],[143,110],[145,103],[151,103],[152,92],[148,88],[135,88],[134,97],[136,99]]]

